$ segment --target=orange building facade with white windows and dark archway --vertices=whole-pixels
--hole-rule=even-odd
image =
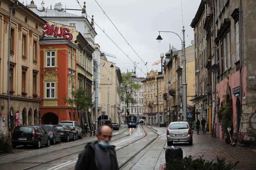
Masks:
[[[43,37],[39,44],[41,124],[77,121],[76,110],[63,100],[72,98],[72,85],[76,87],[77,46],[59,37]]]

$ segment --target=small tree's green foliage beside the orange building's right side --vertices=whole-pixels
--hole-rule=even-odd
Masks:
[[[67,98],[67,94],[62,97],[64,103],[68,103],[71,107],[75,108],[77,112],[82,109],[92,108],[93,103],[93,94],[88,92],[87,89],[78,88],[71,92],[71,96],[73,98]]]

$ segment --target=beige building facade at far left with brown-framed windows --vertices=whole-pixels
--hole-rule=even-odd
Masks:
[[[0,34],[4,35],[0,43],[0,133],[11,137],[11,131],[15,126],[22,123],[34,125],[40,122],[38,42],[42,37],[42,27],[46,21],[22,3],[10,0],[1,1],[0,18]],[[8,56],[10,56],[10,67]],[[8,69],[10,69],[10,77]]]

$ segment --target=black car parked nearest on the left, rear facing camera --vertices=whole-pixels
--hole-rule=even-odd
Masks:
[[[40,125],[20,125],[14,128],[11,143],[13,148],[18,145],[34,145],[39,149],[41,145],[50,145],[50,136]]]

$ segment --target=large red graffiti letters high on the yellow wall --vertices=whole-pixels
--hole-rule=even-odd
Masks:
[[[62,28],[58,26],[46,24],[43,27],[43,35],[53,36],[53,37],[62,37],[66,38],[69,41],[73,40],[73,34],[70,32],[69,28]]]

